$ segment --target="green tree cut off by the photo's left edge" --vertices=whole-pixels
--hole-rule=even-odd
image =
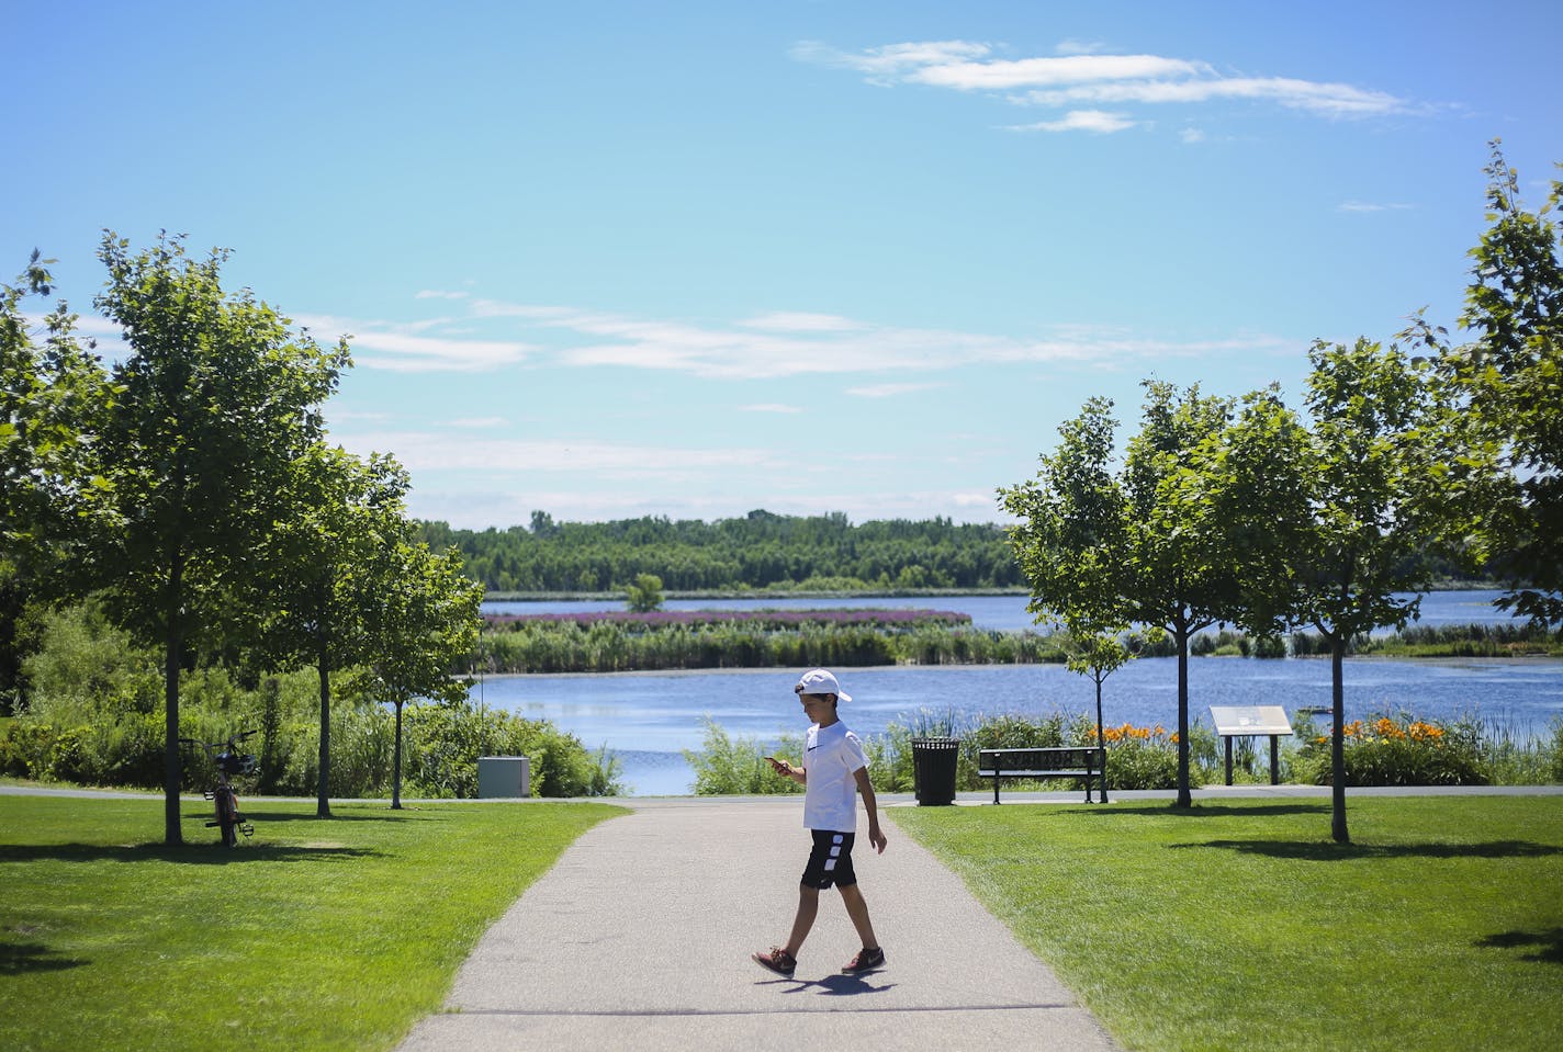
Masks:
[[[50,263],[34,250],[0,284],[0,713],[20,689],[22,614],[80,591],[108,489],[92,442],[113,394],[103,367],[63,302],[36,328],[22,310],[52,292]]]

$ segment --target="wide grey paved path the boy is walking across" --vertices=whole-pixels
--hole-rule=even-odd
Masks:
[[[791,980],[749,954],[786,939],[808,855],[802,802],[628,800],[483,936],[447,1011],[400,1052],[511,1049],[1116,1049],[964,885],[885,822],[853,853],[888,968],[841,975],[836,893]],[[861,825],[861,816],[860,816]]]

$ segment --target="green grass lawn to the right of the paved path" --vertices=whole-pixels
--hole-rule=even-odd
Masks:
[[[1563,797],[891,814],[1130,1049],[1563,1041]]]

